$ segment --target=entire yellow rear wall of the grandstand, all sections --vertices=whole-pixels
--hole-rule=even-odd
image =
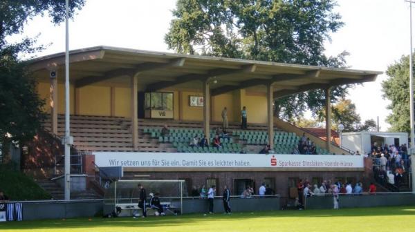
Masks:
[[[41,82],[37,86],[39,96],[46,99],[45,112],[50,110],[50,83]],[[174,92],[174,119],[179,119],[179,104],[182,104],[182,120],[203,120],[203,108],[189,106],[189,96],[201,96],[201,92],[183,91],[183,97],[179,99],[179,92]],[[71,114],[74,113],[75,90],[71,86]],[[111,115],[111,88],[104,86],[85,86],[80,88],[80,115]],[[64,84],[58,84],[58,113],[65,112],[64,106]],[[118,117],[130,117],[131,92],[129,88],[115,88],[115,115]],[[180,102],[181,100],[181,102]],[[229,122],[241,122],[241,109],[248,109],[248,123],[266,123],[267,109],[266,96],[254,93],[246,93],[246,90],[235,90],[212,97],[212,121],[221,122],[223,107],[228,108]]]

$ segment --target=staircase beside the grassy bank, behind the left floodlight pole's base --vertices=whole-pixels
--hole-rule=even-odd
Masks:
[[[52,180],[37,180],[39,186],[42,187],[46,192],[52,195],[52,198],[55,200],[64,200],[65,193],[64,190],[57,185]],[[86,199],[101,199],[100,195],[97,193],[87,190],[87,191],[77,191],[71,192],[71,200],[86,200]]]

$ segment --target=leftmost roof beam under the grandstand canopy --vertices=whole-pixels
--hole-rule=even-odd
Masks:
[[[171,61],[167,63],[146,62],[146,63],[138,64],[134,66],[133,68],[117,68],[117,69],[106,72],[104,75],[100,77],[91,76],[91,77],[84,77],[82,79],[79,79],[75,81],[75,88],[82,88],[84,86],[88,86],[90,84],[94,84],[99,81],[111,79],[113,77],[134,76],[138,72],[145,72],[148,70],[154,70],[158,68],[166,68],[166,67],[172,67],[172,66],[183,66],[183,64],[185,64],[185,58],[172,59]]]

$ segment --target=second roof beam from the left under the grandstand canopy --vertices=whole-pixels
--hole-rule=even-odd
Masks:
[[[238,74],[238,73],[242,73],[242,72],[251,73],[251,72],[255,72],[256,68],[257,68],[257,66],[255,66],[255,64],[249,64],[249,65],[246,65],[246,66],[241,66],[241,68],[239,68],[239,69],[216,68],[214,70],[210,70],[206,74],[182,75],[182,76],[176,77],[176,79],[174,79],[173,81],[159,81],[159,82],[156,82],[154,84],[149,84],[146,88],[146,91],[147,92],[154,92],[154,91],[157,91],[157,90],[161,90],[163,88],[169,88],[171,86],[175,86],[175,85],[178,85],[178,84],[183,84],[183,83],[189,82],[189,81],[209,81],[210,79],[212,79],[214,77],[220,77],[220,76],[225,76],[225,75],[234,75],[234,74]]]

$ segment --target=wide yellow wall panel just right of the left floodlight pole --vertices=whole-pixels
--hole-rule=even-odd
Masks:
[[[111,115],[111,88],[103,86],[80,88],[80,115]]]

